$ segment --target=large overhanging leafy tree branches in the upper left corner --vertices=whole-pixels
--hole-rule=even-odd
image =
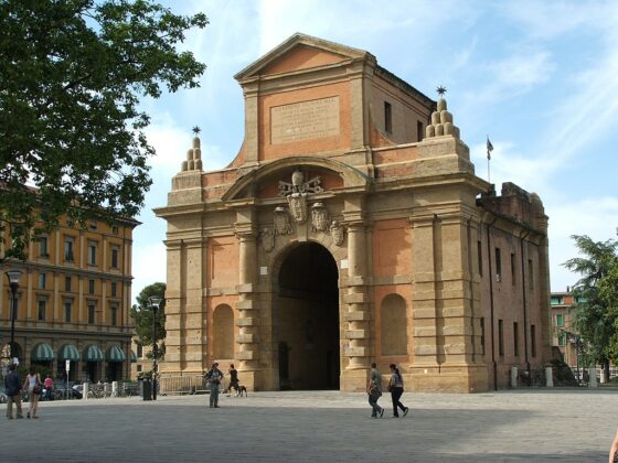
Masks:
[[[24,260],[31,234],[61,216],[85,226],[139,212],[154,154],[140,98],[199,86],[205,65],[177,45],[206,24],[150,0],[0,0],[7,257]]]

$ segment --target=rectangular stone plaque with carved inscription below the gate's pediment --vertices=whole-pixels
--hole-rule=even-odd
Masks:
[[[339,134],[339,97],[270,108],[270,142],[311,140]]]

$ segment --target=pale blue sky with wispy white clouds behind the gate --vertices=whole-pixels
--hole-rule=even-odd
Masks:
[[[379,65],[437,99],[446,98],[478,176],[541,196],[550,223],[552,291],[578,276],[572,235],[616,238],[618,227],[618,2],[175,0],[173,12],[204,12],[210,24],[179,50],[207,68],[201,88],[145,100],[157,150],[153,185],[134,234],[132,297],[166,281],[166,222],[171,179],[202,129],[204,170],[225,168],[244,134],[244,101],[234,75],[300,32],[372,53]]]

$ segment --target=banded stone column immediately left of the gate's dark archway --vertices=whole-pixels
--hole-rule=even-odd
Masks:
[[[238,311],[236,326],[237,353],[239,360],[238,370],[243,372],[243,383],[255,390],[258,387],[258,313],[257,298],[255,294],[257,282],[257,234],[251,226],[236,230],[239,241],[238,257]]]

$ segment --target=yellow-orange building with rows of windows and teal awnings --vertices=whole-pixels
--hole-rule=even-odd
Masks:
[[[67,220],[30,244],[25,262],[7,259],[1,271],[22,271],[17,292],[14,356],[21,365],[44,365],[57,378],[119,380],[130,375],[132,320],[131,248],[134,219],[114,225],[90,222],[86,229]],[[0,259],[8,230],[3,230]],[[10,357],[11,289],[0,278],[0,346]]]

